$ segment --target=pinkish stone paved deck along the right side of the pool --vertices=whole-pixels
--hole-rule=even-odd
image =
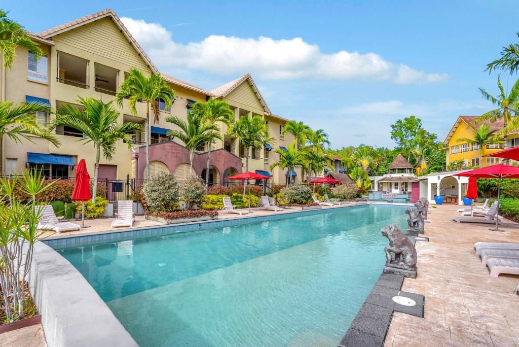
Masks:
[[[431,209],[425,236],[417,242],[418,275],[402,290],[425,296],[425,318],[394,313],[386,346],[519,346],[519,276],[490,277],[474,254],[476,242],[519,242],[517,224],[506,232],[489,225],[455,223],[459,206]]]

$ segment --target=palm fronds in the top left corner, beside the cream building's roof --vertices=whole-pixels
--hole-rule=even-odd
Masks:
[[[4,60],[4,68],[12,68],[16,58],[16,47],[29,49],[35,60],[43,57],[43,51],[33,41],[23,26],[7,18],[6,11],[0,9],[0,51]]]

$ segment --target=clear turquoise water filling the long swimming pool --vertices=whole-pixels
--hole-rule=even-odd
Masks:
[[[333,345],[380,275],[405,208],[303,217],[58,250],[141,346]],[[93,332],[95,333],[95,332]]]

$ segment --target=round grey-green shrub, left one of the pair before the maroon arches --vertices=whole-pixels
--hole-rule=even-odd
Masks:
[[[142,193],[146,207],[151,211],[174,211],[180,200],[179,183],[173,175],[166,172],[153,176],[144,183]]]

